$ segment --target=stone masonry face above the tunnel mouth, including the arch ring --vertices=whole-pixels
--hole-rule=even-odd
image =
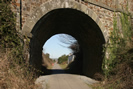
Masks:
[[[34,18],[34,21],[31,21],[32,26],[28,26],[30,27],[28,31],[30,34],[34,24],[48,11],[58,8],[73,8],[88,14],[88,16],[99,25],[107,41],[110,31],[113,30],[114,11],[126,12],[127,0],[78,1],[79,0],[12,0],[13,11],[17,16],[17,28],[26,30],[29,19],[37,15],[39,16],[40,14],[39,17]],[[132,15],[133,0],[128,0],[128,9]]]

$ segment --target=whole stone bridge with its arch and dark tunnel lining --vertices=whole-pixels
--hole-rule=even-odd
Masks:
[[[12,7],[18,31],[30,38],[30,64],[41,69],[44,43],[65,33],[79,42],[82,73],[87,76],[101,71],[114,16],[128,13],[127,7],[133,16],[133,0],[14,0]]]

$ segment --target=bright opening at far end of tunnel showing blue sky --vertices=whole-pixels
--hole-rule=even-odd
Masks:
[[[42,65],[52,70],[66,69],[74,61],[74,53],[79,51],[78,46],[77,40],[68,34],[52,36],[43,45]],[[56,70],[56,72],[60,71]]]

